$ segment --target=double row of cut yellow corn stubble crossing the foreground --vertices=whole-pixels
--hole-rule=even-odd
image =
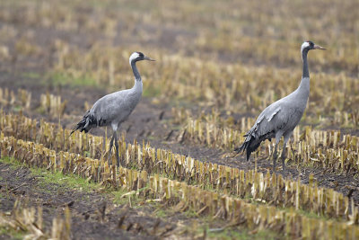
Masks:
[[[146,199],[160,199],[178,211],[195,209],[198,214],[225,218],[250,229],[270,228],[290,236],[359,234],[359,214],[354,202],[313,182],[305,185],[285,180],[281,175],[203,163],[148,144],[126,144],[123,139],[119,145],[124,167],[117,168],[115,157],[112,164],[104,161],[100,137],[86,137],[83,133],[69,137],[69,130],[44,121],[37,129],[36,120],[4,113],[0,114],[0,129],[1,156],[137,191]],[[100,160],[84,156],[85,152]],[[336,220],[308,218],[297,209]]]

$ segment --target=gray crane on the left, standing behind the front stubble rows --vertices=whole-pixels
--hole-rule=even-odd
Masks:
[[[73,134],[75,130],[79,129],[80,131],[87,133],[93,128],[111,126],[113,135],[109,142],[109,159],[111,156],[113,141],[115,141],[118,166],[119,156],[117,130],[119,129],[121,123],[127,120],[131,112],[134,111],[137,103],[141,99],[143,84],[136,67],[136,62],[141,60],[154,61],[154,59],[144,56],[142,52],[134,52],[131,54],[129,57],[129,64],[132,67],[132,71],[135,76],[134,86],[130,89],[110,93],[101,97],[101,99],[93,104],[91,110],[86,111],[83,115],[83,120],[79,121],[77,126],[71,132],[71,134]]]

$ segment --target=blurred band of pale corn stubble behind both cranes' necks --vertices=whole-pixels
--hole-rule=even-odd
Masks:
[[[133,84],[133,79],[126,77],[129,52],[94,45],[82,53],[80,49],[68,50],[70,47],[66,43],[64,46],[57,49],[58,62],[53,69],[55,73],[73,78],[96,79],[95,84],[110,87],[116,85],[126,88]],[[300,68],[294,71],[292,68],[251,67],[236,63],[223,65],[200,58],[167,55],[162,50],[144,50],[151,51],[153,58],[161,62],[154,68],[141,66],[144,92],[157,93],[156,97],[167,101],[176,96],[182,101],[196,101],[206,107],[254,113],[293,92],[301,79]],[[298,66],[301,64],[298,63]],[[346,76],[344,73],[313,73],[311,78],[311,101],[304,120],[320,123],[323,127],[331,124],[357,126],[357,77]]]

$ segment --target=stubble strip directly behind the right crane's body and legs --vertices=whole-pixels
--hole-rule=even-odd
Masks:
[[[241,118],[234,124],[231,119],[220,118],[217,112],[196,118],[190,112],[172,109],[172,115],[174,121],[183,126],[181,132],[186,132],[185,140],[226,151],[238,147],[255,122],[255,119]],[[258,148],[256,156],[268,157],[273,149],[274,143],[267,141]],[[288,144],[287,158],[296,165],[317,165],[335,173],[358,173],[359,138],[343,135],[340,130],[298,127],[294,129],[293,141]]]

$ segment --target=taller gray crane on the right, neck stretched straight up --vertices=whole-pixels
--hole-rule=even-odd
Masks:
[[[238,153],[247,150],[247,161],[250,159],[250,154],[259,147],[262,141],[266,139],[270,141],[271,138],[276,138],[276,147],[273,153],[273,169],[276,171],[276,148],[283,136],[285,139],[281,157],[283,171],[285,172],[286,143],[292,136],[293,129],[302,119],[302,114],[308,102],[310,77],[307,55],[311,49],[325,50],[310,40],[302,43],[303,68],[301,84],[299,84],[299,87],[293,93],[267,106],[267,108],[259,114],[253,127],[244,135],[246,138],[241,147],[234,149],[234,151]]]

